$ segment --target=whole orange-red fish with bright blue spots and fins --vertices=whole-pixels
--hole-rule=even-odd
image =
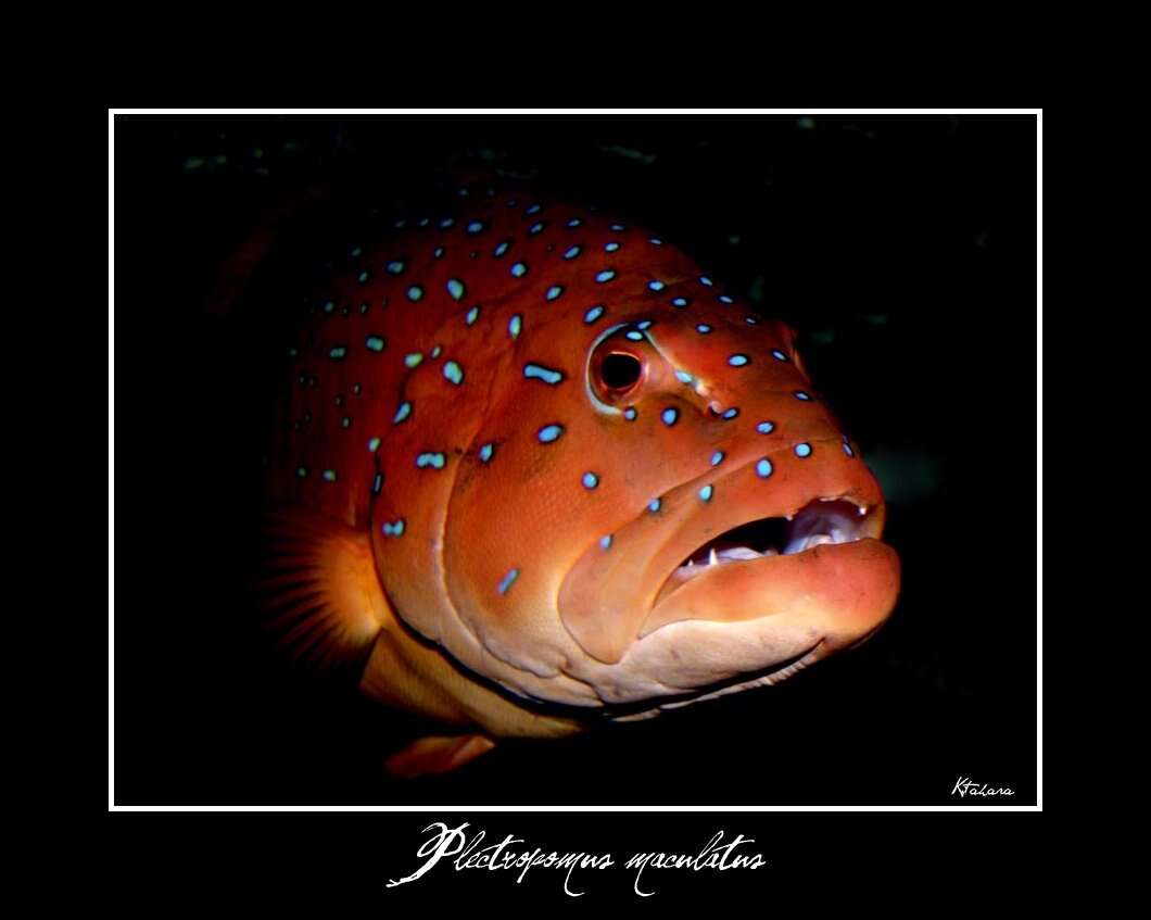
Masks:
[[[444,773],[776,684],[899,593],[796,333],[593,208],[489,193],[308,289],[267,469],[267,622],[435,728]]]

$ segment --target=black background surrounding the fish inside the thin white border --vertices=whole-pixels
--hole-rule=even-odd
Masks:
[[[119,117],[116,803],[986,804],[961,775],[1034,803],[1035,142],[1007,116]],[[382,771],[414,720],[267,648],[264,330],[205,306],[220,266],[318,184],[387,205],[462,166],[642,223],[800,329],[890,501],[905,581],[874,640],[417,782]]]

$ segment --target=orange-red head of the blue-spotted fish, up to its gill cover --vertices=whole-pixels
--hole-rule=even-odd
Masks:
[[[671,248],[584,272],[562,303],[488,311],[420,543],[437,599],[399,605],[436,613],[405,618],[521,697],[631,710],[868,638],[899,588],[883,494],[793,330]]]

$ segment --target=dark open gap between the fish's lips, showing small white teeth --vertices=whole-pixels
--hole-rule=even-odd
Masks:
[[[688,554],[656,598],[716,565],[792,556],[826,543],[851,543],[872,535],[868,509],[846,499],[815,499],[790,517],[768,517],[724,531]]]

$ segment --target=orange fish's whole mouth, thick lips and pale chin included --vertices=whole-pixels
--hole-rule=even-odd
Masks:
[[[768,464],[747,451],[725,473],[683,481],[618,529],[609,548],[586,550],[558,605],[582,651],[624,671],[666,647],[669,660],[651,667],[689,671],[688,683],[703,685],[821,636],[821,655],[830,654],[882,623],[899,560],[879,540],[879,484],[837,440],[814,443],[801,461],[787,462],[795,444],[785,443]],[[739,643],[746,655],[733,651]]]

